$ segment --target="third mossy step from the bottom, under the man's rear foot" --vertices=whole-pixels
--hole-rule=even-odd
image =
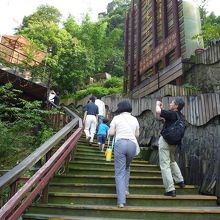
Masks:
[[[92,183],[53,183],[49,184],[50,192],[68,192],[68,193],[115,193],[115,184],[92,184]],[[129,191],[131,194],[148,194],[148,195],[163,195],[163,185],[144,185],[130,184]],[[176,186],[177,195],[198,194],[198,190],[194,186],[186,186],[180,189]]]

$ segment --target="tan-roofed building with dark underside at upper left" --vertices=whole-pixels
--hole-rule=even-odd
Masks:
[[[0,42],[0,59],[14,65],[6,67],[0,61],[0,86],[12,83],[13,87],[23,91],[23,98],[28,100],[47,100],[47,87],[41,81],[32,78],[28,70],[21,71],[17,64],[36,66],[44,59],[46,53],[32,48],[29,40],[20,35],[4,35]]]

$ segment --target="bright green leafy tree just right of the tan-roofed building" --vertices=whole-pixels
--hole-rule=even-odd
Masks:
[[[76,41],[73,43],[71,34],[60,28],[60,15],[54,7],[40,6],[35,13],[24,19],[18,34],[32,39],[45,51],[49,47],[52,48],[52,53],[47,55],[34,72],[35,75],[43,77],[47,84],[51,76],[50,87],[54,87],[61,93],[67,93],[75,89],[70,84],[78,85],[79,80],[76,78],[81,78],[76,59],[80,59],[79,50],[82,50],[79,49],[79,45],[76,46]]]

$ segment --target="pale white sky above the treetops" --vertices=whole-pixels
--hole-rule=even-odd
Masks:
[[[14,28],[22,23],[24,16],[36,11],[42,4],[55,6],[65,20],[69,14],[80,22],[83,15],[90,14],[93,21],[99,12],[106,11],[112,0],[0,0],[0,35],[13,34]],[[220,0],[208,0],[208,11],[220,15]]]

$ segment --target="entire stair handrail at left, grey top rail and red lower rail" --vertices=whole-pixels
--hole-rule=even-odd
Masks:
[[[49,179],[61,167],[72,152],[82,133],[82,119],[68,108],[63,107],[72,121],[42,144],[20,164],[0,177],[0,189],[15,183],[21,175],[45,156],[61,139],[66,137],[78,125],[78,129],[64,142],[52,157],[25,183],[25,185],[0,209],[0,219],[17,219],[30,205],[34,198],[44,189]],[[32,190],[32,192],[31,192]],[[28,193],[28,196],[27,196]],[[25,198],[20,204],[21,200]],[[19,205],[19,206],[18,206]],[[17,207],[18,206],[18,207]],[[14,208],[16,210],[14,210]],[[13,213],[12,213],[13,210]],[[14,216],[14,217],[13,217]]]

